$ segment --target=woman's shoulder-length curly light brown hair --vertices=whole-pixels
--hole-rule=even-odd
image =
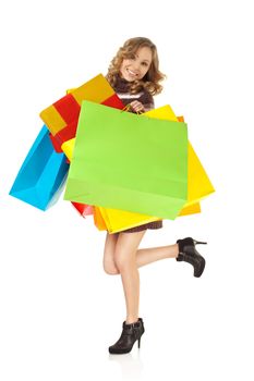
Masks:
[[[148,47],[152,50],[152,63],[146,75],[141,81],[133,81],[130,83],[130,93],[136,94],[145,88],[150,95],[161,93],[162,86],[159,84],[167,76],[159,71],[159,59],[157,48],[146,37],[133,37],[128,39],[123,46],[118,50],[116,57],[110,62],[106,78],[113,87],[117,83],[117,77],[120,72],[122,61],[131,58],[141,47]]]

